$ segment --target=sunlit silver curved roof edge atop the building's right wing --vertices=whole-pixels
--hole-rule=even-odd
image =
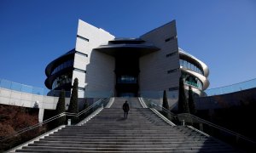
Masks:
[[[205,77],[209,76],[209,68],[204,62],[202,62],[200,59],[195,58],[195,56],[192,56],[191,54],[186,53],[181,48],[178,49],[178,52],[181,58],[186,59],[191,63],[195,63],[196,65],[200,65]]]

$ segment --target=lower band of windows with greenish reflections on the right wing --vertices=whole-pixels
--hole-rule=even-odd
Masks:
[[[202,82],[195,76],[191,76],[186,72],[182,72],[183,81],[187,85],[194,86],[202,90]]]

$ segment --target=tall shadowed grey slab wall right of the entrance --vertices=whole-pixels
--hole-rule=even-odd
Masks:
[[[168,90],[169,88],[178,87],[179,56],[173,54],[166,57],[166,54],[172,54],[178,51],[177,32],[175,20],[160,26],[159,28],[149,31],[141,38],[151,42],[154,46],[160,48],[159,51],[148,54],[140,58],[140,90]],[[166,39],[172,39],[166,42]],[[172,73],[167,71],[175,70]]]

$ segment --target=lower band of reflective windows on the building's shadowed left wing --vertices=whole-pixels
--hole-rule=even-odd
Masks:
[[[59,77],[55,78],[55,81],[52,83],[52,88],[61,87],[64,84],[72,82],[72,71],[67,72]]]

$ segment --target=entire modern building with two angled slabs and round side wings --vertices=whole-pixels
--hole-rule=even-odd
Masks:
[[[70,91],[78,78],[79,98],[176,92],[179,77],[197,95],[209,86],[207,65],[178,48],[175,20],[137,38],[116,38],[79,20],[75,48],[50,62],[45,73],[51,90]]]

